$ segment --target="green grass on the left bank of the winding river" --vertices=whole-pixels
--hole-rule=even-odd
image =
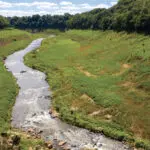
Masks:
[[[3,59],[14,51],[23,49],[33,39],[40,36],[41,34],[31,35],[15,29],[0,30],[0,132],[7,132],[10,128],[11,109],[18,93],[16,81],[5,69]],[[29,146],[34,147],[39,144],[41,145],[39,140],[27,139],[26,136],[22,136],[22,149],[26,150]]]

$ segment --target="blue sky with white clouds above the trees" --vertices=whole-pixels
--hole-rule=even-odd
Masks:
[[[109,8],[118,0],[0,0],[0,15],[77,14],[94,8]]]

